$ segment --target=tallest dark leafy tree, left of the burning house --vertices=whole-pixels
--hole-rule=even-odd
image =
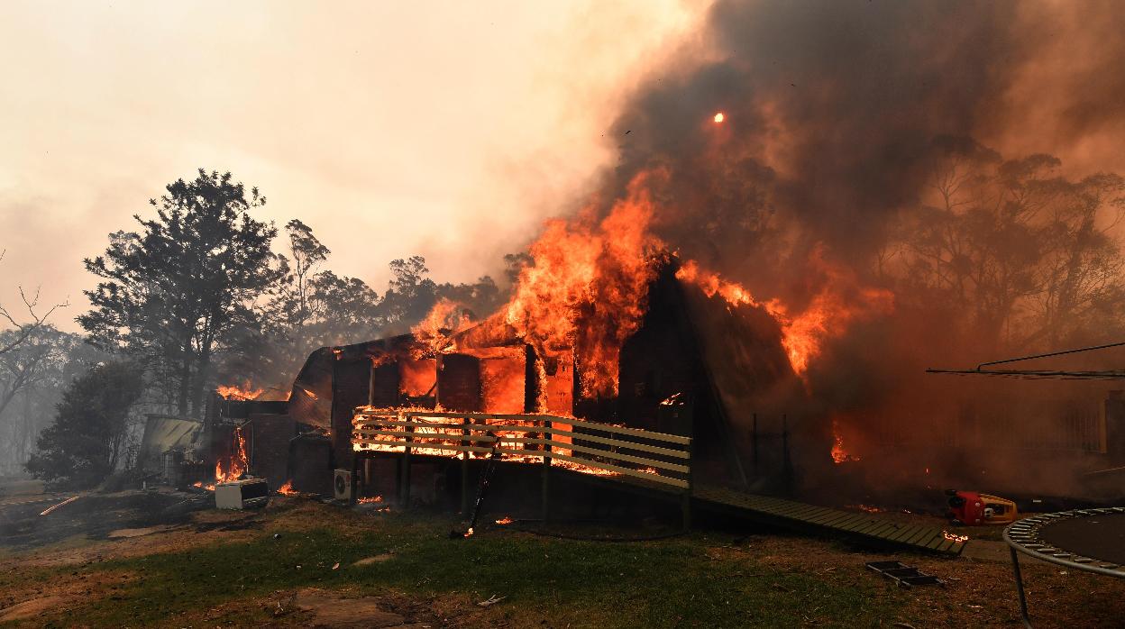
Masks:
[[[216,352],[285,269],[270,251],[277,228],[250,215],[266,204],[256,188],[200,169],[166,190],[150,201],[156,218],[134,216],[140,232],[111,234],[83,261],[104,281],[78,322],[97,344],[144,358],[177,412],[198,416]]]

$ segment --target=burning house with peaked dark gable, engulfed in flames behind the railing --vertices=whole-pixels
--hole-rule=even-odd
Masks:
[[[574,344],[536,343],[502,312],[324,348],[297,377],[289,413],[330,435],[340,468],[351,466],[353,412],[372,407],[548,414],[691,435],[696,469],[714,482],[791,482],[789,448],[819,440],[827,451],[829,438],[786,434],[785,403],[801,384],[776,320],[685,280],[673,257],[649,263],[633,322],[587,311],[576,314]],[[603,323],[615,326],[609,338],[585,327]]]

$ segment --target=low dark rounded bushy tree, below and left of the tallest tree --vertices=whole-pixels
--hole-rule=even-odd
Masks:
[[[27,470],[51,486],[84,488],[117,469],[128,434],[128,416],[141,397],[141,368],[99,365],[63,393],[54,423],[39,434]]]

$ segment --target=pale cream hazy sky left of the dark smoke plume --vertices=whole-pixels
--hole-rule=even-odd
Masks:
[[[628,2],[4,2],[0,302],[69,298],[83,257],[195,169],[299,217],[380,290],[413,253],[495,272],[613,159],[603,134],[704,7]]]

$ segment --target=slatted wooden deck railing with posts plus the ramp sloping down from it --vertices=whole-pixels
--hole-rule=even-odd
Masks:
[[[551,415],[372,407],[357,408],[352,424],[352,443],[357,449],[353,473],[358,475],[359,460],[363,457],[400,455],[404,465],[400,466],[398,495],[406,504],[410,502],[412,457],[456,457],[462,466],[461,511],[467,512],[470,458],[476,457],[479,461],[486,456],[501,456],[511,462],[537,465],[542,470],[544,520],[549,512],[550,477],[569,475],[676,500],[683,510],[685,528],[691,528],[691,512],[696,509],[722,511],[775,527],[868,546],[943,555],[960,555],[964,548],[964,542],[948,539],[943,530],[933,527],[693,482],[692,439],[685,435]],[[572,464],[572,468],[565,464]]]

